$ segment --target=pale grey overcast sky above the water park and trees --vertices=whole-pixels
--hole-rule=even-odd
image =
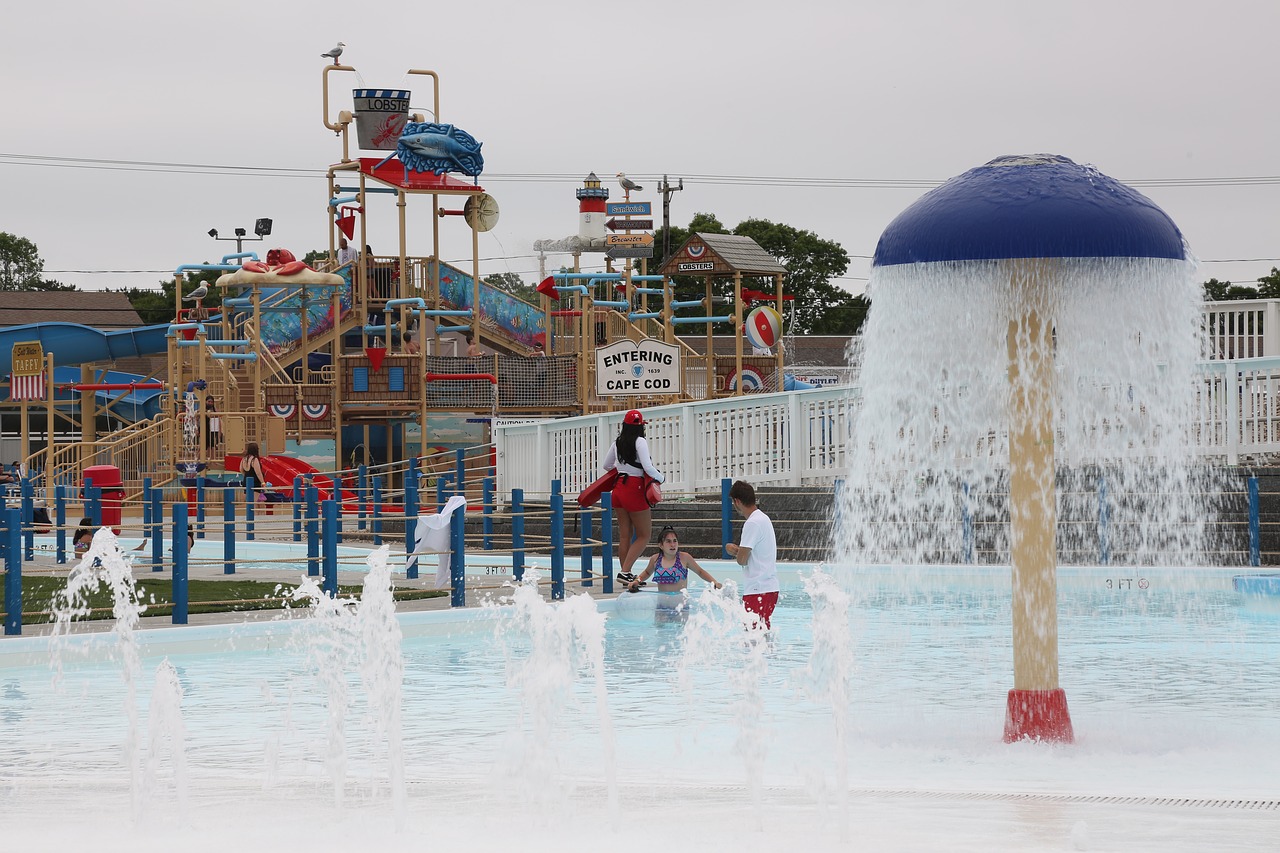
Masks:
[[[260,216],[274,234],[246,248],[326,246],[323,173],[340,147],[321,124],[320,54],[339,40],[360,78],[330,76],[332,109],[371,86],[413,88],[426,111],[428,78],[404,72],[431,69],[440,119],[484,143],[480,182],[502,207],[484,273],[535,280],[534,241],[577,232],[581,177],[621,200],[612,175],[626,172],[655,202],[655,175],[684,177],[678,225],[709,211],[840,242],[858,292],[922,182],[1025,152],[1133,183],[1183,229],[1202,278],[1280,265],[1276,0],[10,6],[0,231],[83,288],[216,260],[234,243],[206,232],[252,234]],[[411,254],[429,254],[429,197],[408,222]],[[392,199],[374,199],[370,228],[393,254]],[[444,257],[468,259],[461,218],[444,228]]]

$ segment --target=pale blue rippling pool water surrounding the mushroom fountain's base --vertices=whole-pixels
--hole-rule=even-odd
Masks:
[[[10,640],[0,644],[0,808],[13,816],[15,838],[61,826],[69,809],[86,822],[155,822],[163,838],[164,827],[216,826],[230,803],[248,799],[246,820],[251,812],[265,825],[294,809],[307,827],[337,821],[335,835],[315,830],[320,849],[355,826],[376,827],[394,849],[406,825],[425,822],[449,838],[433,822],[445,803],[458,820],[483,824],[497,809],[512,827],[522,826],[518,815],[540,827],[529,836],[462,834],[468,849],[508,841],[554,849],[557,833],[572,839],[579,821],[631,839],[634,809],[657,818],[678,809],[689,827],[678,838],[690,844],[741,841],[739,831],[777,844],[785,838],[773,833],[790,826],[827,849],[860,820],[886,841],[933,838],[910,817],[890,818],[897,806],[867,808],[869,797],[909,792],[960,798],[931,800],[928,813],[941,809],[934,841],[954,840],[945,827],[965,820],[977,821],[972,849],[991,849],[992,838],[1042,849],[1009,843],[1023,838],[1027,818],[1006,813],[1001,794],[1280,799],[1280,619],[1244,607],[1229,574],[1148,570],[1140,579],[1142,587],[1137,574],[1061,573],[1073,747],[1000,742],[1012,686],[1007,570],[846,571],[838,589],[847,610],[832,622],[826,608],[822,624],[792,575],[768,637],[742,631],[735,599],[703,585],[691,589],[685,625],[655,624],[649,593],[599,602],[607,615],[591,602],[575,605],[568,621],[564,606],[544,606],[524,622],[509,607],[402,615],[408,802],[396,815],[378,729],[385,715],[351,660],[361,639],[346,628],[310,619],[140,631],[141,806],[123,757],[131,735],[111,651],[118,640],[61,640],[56,683],[47,661],[32,662],[47,658],[47,640]],[[599,665],[589,648],[593,620],[605,626]],[[833,637],[841,647],[829,644]],[[826,649],[818,657],[815,640]],[[180,767],[172,738],[148,740],[164,660],[182,688]],[[978,795],[1004,806],[964,799]],[[992,808],[1005,811],[989,816]],[[776,826],[762,817],[774,809]],[[1267,833],[1277,816],[1179,812],[1158,822],[1180,826],[1184,839],[1204,831],[1252,849],[1254,839],[1276,838]],[[1161,838],[1142,834],[1151,830],[1146,817],[1121,829],[1102,815],[1060,816],[1055,844],[1080,849],[1080,820],[1094,840]],[[724,835],[721,825],[735,829]]]

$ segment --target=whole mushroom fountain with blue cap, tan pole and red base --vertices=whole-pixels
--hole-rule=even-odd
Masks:
[[[1185,259],[1183,236],[1149,199],[1056,155],[1004,156],[904,210],[873,266],[911,274],[975,265],[1007,282],[1009,515],[1014,688],[1005,742],[1074,739],[1059,684],[1053,457],[1053,300],[1065,259]],[[873,302],[874,310],[874,302]],[[1004,318],[1001,318],[1004,319]]]

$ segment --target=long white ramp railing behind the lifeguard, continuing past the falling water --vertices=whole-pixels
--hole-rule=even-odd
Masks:
[[[1201,364],[1190,438],[1206,461],[1280,455],[1280,357]],[[718,493],[731,471],[756,485],[828,484],[847,471],[856,387],[748,394],[646,409],[668,493]],[[577,494],[594,480],[623,412],[494,424],[498,494],[545,494],[559,480]]]

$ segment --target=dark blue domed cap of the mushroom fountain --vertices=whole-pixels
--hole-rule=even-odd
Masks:
[[[873,266],[1009,257],[1184,259],[1147,196],[1052,154],[996,158],[931,190],[890,223]]]

